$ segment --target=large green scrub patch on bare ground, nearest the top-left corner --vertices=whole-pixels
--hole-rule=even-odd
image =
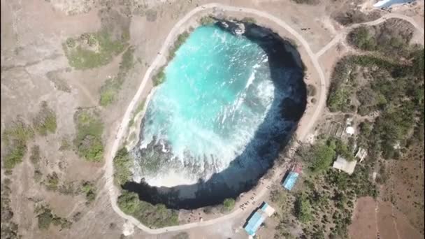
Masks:
[[[106,65],[127,47],[128,36],[113,40],[108,31],[81,34],[62,44],[68,62],[78,70]]]

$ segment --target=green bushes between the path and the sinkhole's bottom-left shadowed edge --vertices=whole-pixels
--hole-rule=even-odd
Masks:
[[[152,205],[140,201],[136,193],[123,190],[117,203],[124,213],[136,217],[152,229],[178,224],[177,211],[168,209],[163,204]]]

